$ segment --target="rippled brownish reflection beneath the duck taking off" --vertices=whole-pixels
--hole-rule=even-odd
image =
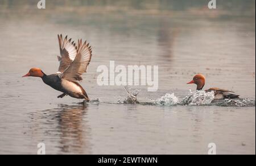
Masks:
[[[86,132],[84,116],[87,111],[86,105],[60,105],[59,127],[60,127],[60,149],[64,153],[89,153],[86,143]]]

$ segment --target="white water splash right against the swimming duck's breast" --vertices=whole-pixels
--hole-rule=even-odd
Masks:
[[[196,90],[190,92],[182,99],[181,105],[209,105],[214,99],[214,92],[205,92],[204,90]]]

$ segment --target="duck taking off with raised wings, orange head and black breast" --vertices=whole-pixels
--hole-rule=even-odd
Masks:
[[[68,40],[66,36],[63,40],[62,35],[58,35],[60,45],[60,62],[59,71],[56,74],[46,75],[39,68],[31,68],[30,71],[23,77],[40,77],[43,82],[53,89],[63,92],[58,98],[63,98],[68,95],[74,98],[81,98],[89,101],[89,98],[77,82],[81,81],[81,74],[85,73],[90,59],[92,58],[92,49],[89,43],[82,43],[82,39],[78,40],[77,45]]]

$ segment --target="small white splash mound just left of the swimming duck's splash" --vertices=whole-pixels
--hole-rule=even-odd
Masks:
[[[166,93],[164,96],[156,99],[153,102],[155,103],[155,105],[171,106],[171,105],[177,105],[177,103],[179,102],[179,98],[177,98],[174,93],[172,94]]]

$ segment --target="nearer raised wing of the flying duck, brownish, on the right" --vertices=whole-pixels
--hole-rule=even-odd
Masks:
[[[61,74],[61,78],[69,81],[81,81],[81,74],[85,73],[90,59],[92,58],[92,49],[89,46],[89,43],[84,42],[80,39],[78,42],[77,55],[75,60],[69,65],[67,69]]]

